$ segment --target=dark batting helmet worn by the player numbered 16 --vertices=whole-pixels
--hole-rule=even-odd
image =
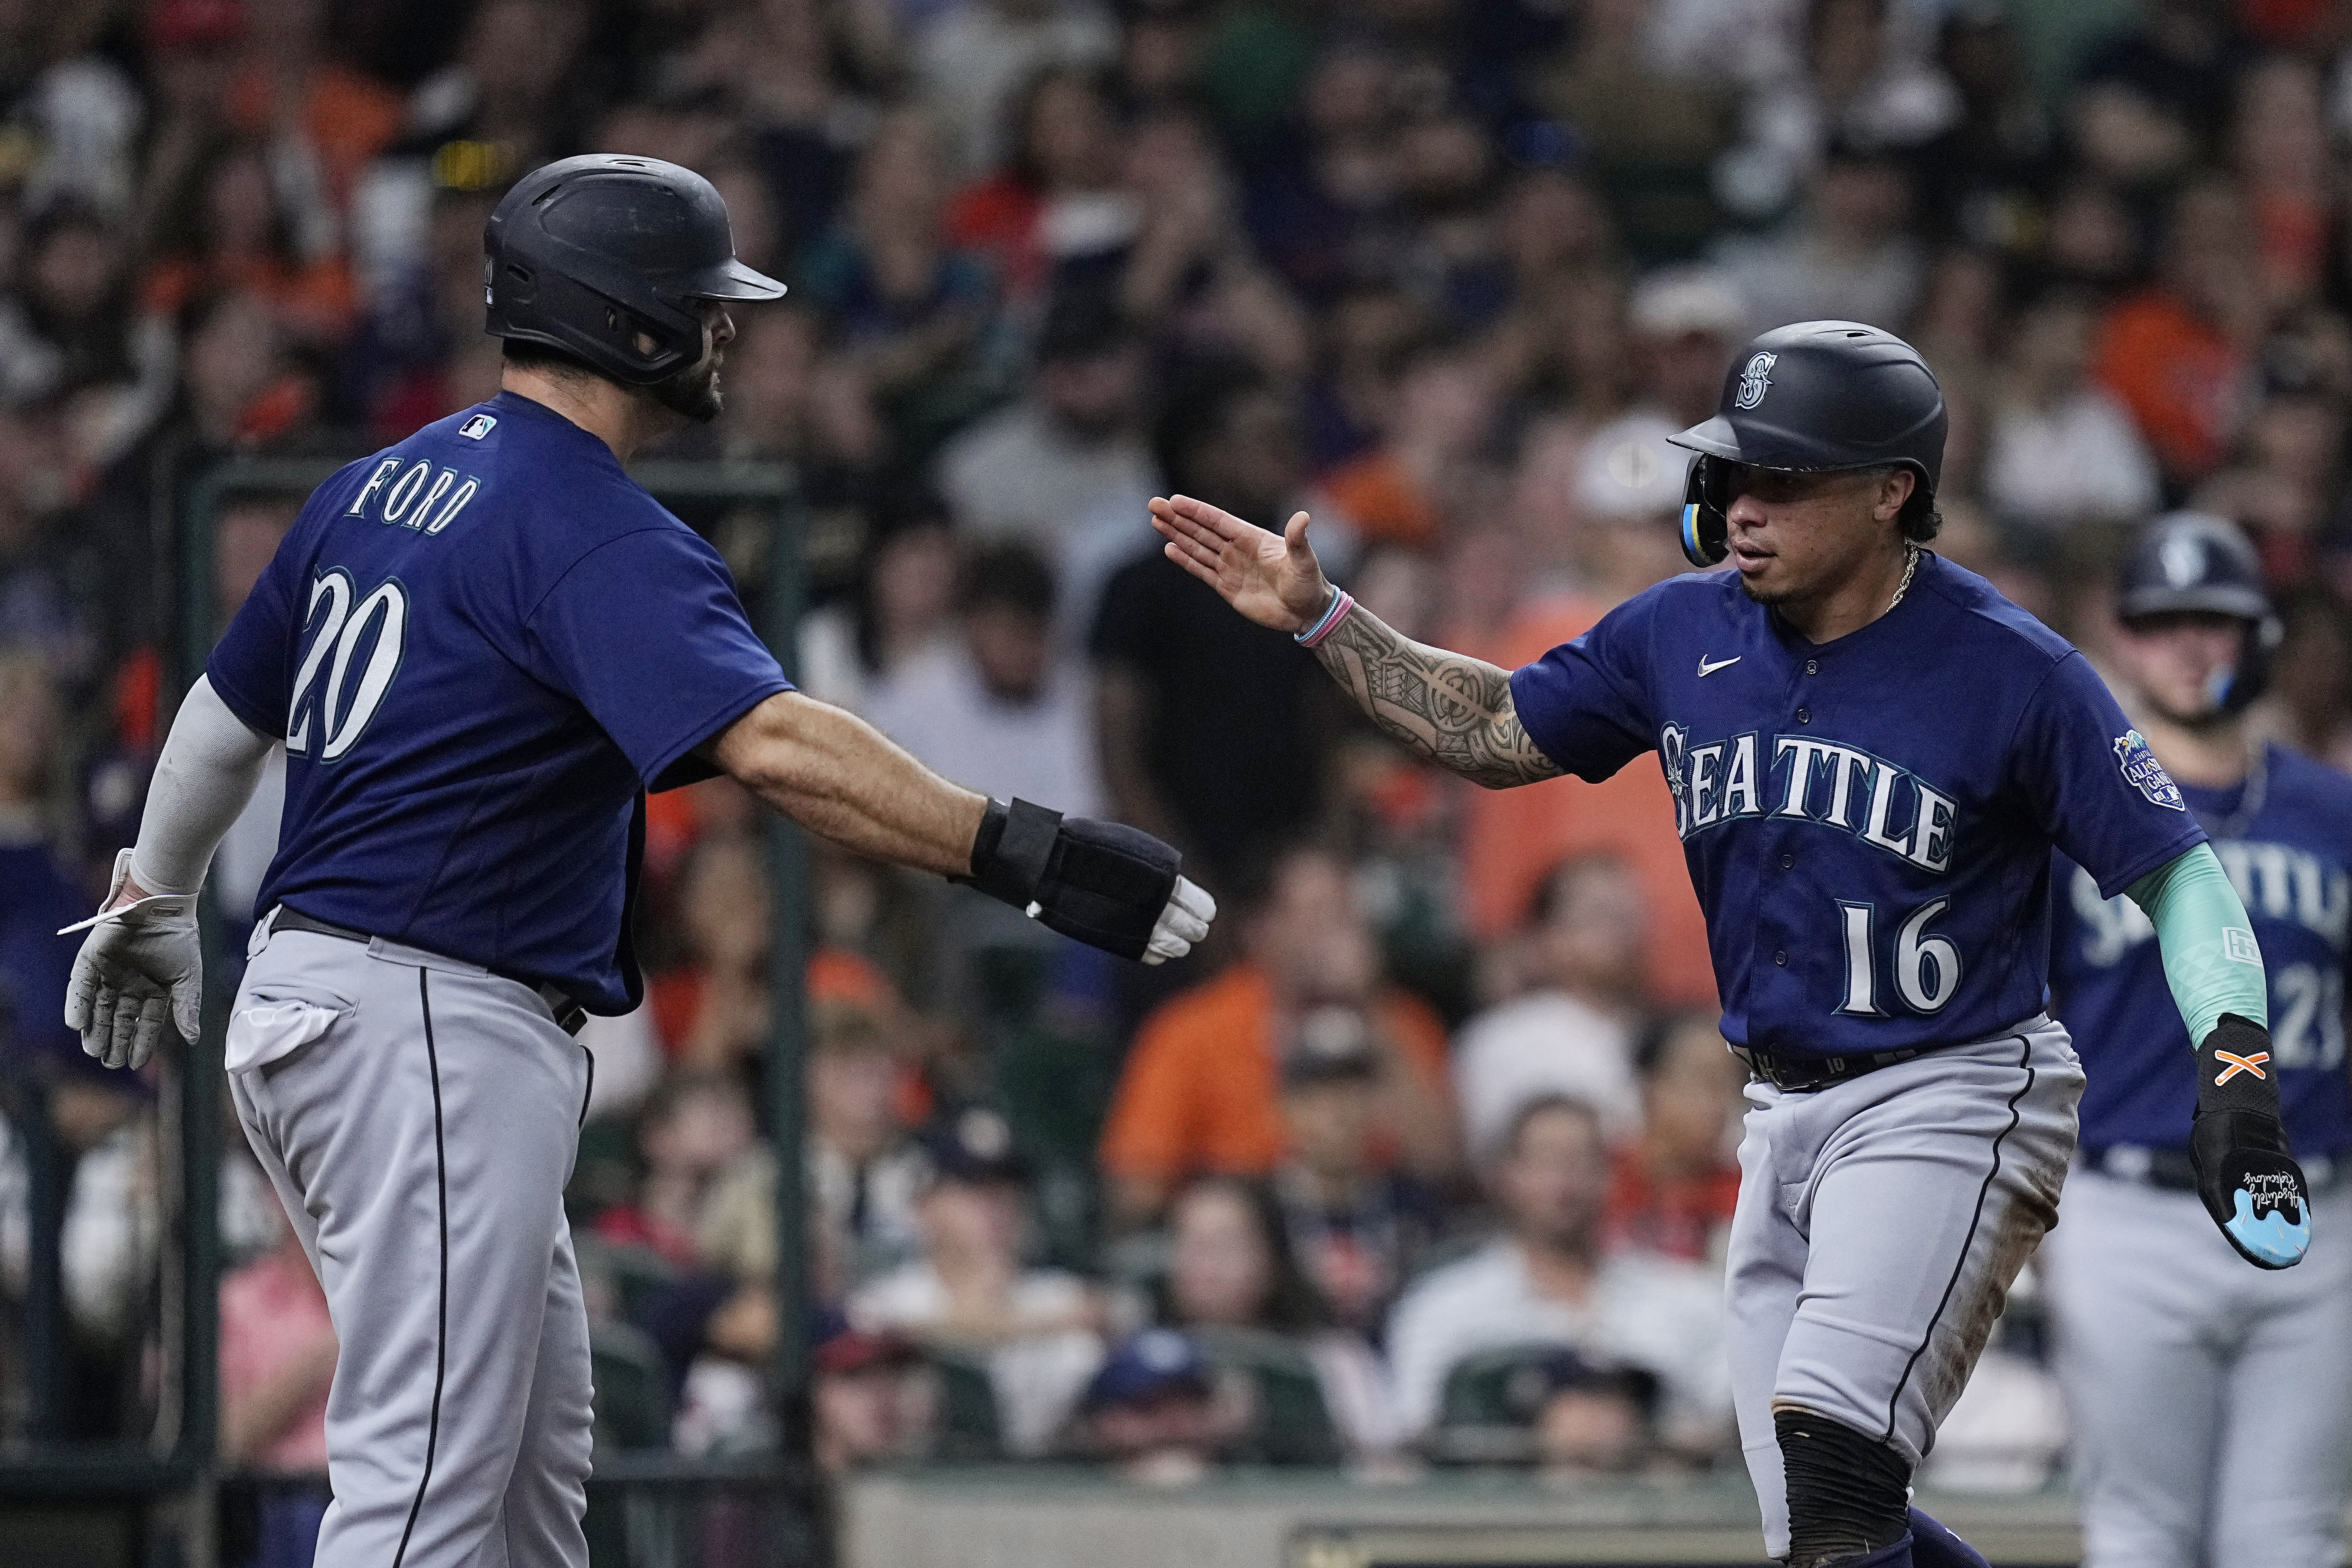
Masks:
[[[1785,473],[1900,463],[1919,475],[1903,529],[1926,538],[1943,430],[1943,388],[1896,334],[1860,322],[1773,327],[1731,362],[1715,418],[1670,437],[1698,454],[1682,489],[1682,552],[1693,567],[1719,567],[1729,552],[1729,463]]]

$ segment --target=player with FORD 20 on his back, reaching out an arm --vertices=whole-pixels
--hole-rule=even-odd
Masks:
[[[790,689],[720,557],[623,463],[720,407],[734,259],[706,179],[524,176],[485,230],[506,390],[322,484],[181,703],[66,1020],[195,1037],[195,893],[270,745],[278,858],[230,1098],[341,1340],[332,1568],[588,1561],[588,1319],[562,1187],[581,1013],[642,983],[644,792],[731,773],[837,844],[1131,959],[1214,912],[1131,827],[993,802]]]

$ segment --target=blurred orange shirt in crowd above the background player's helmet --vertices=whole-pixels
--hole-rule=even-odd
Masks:
[[[2117,306],[2093,357],[2173,480],[2199,480],[2227,456],[2244,371],[2230,334],[2164,289]]]

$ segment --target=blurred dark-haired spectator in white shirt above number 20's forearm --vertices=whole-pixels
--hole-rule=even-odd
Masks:
[[[1056,656],[1044,555],[1011,538],[981,545],[955,597],[955,639],[875,682],[866,717],[974,790],[1101,811],[1094,708],[1082,672]]]

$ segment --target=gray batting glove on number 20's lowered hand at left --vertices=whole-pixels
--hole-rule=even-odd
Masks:
[[[132,875],[132,851],[115,856],[115,879],[99,914],[66,926],[89,931],[66,985],[66,1027],[82,1051],[108,1067],[146,1067],[169,1020],[195,1039],[205,1006],[205,952],[195,933],[195,893],[151,893],[113,907]]]

